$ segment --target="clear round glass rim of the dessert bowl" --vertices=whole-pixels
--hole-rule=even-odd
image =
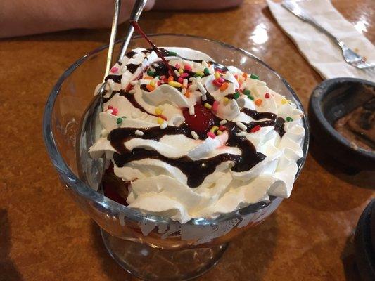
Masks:
[[[309,142],[310,142],[310,129],[309,129],[309,124],[307,121],[307,115],[306,112],[303,108],[302,103],[300,102],[300,99],[296,95],[296,93],[293,91],[291,86],[288,84],[288,82],[281,77],[279,73],[274,71],[272,67],[269,67],[265,62],[260,60],[260,58],[256,57],[252,53],[249,53],[246,50],[243,50],[242,48],[238,48],[236,46],[232,46],[230,44],[224,43],[222,41],[217,41],[217,40],[212,40],[212,39],[207,39],[204,37],[199,37],[196,35],[190,35],[190,34],[175,34],[175,33],[153,33],[153,34],[147,34],[149,37],[163,37],[163,36],[170,36],[170,37],[191,37],[193,39],[201,39],[203,41],[209,41],[210,43],[218,44],[220,46],[223,46],[224,48],[229,48],[229,49],[234,49],[236,51],[240,51],[244,55],[252,58],[255,60],[257,63],[260,63],[264,67],[266,67],[269,71],[271,71],[273,74],[276,75],[286,86],[286,89],[291,93],[293,98],[295,99],[295,103],[297,104],[300,109],[303,110],[304,115],[303,115],[303,126],[305,128],[305,138],[303,140],[303,158],[301,158],[298,164],[298,171],[297,174],[295,175],[295,180],[298,178],[300,175],[300,172],[303,169],[303,166],[305,164],[306,158],[307,158],[307,150],[309,147]],[[139,39],[140,36],[136,35],[132,38],[133,39]],[[120,44],[123,39],[117,40],[116,45]],[[67,70],[63,72],[61,77],[59,77],[58,81],[56,84],[53,86],[53,89],[49,93],[49,96],[46,100],[46,106],[44,107],[44,115],[43,115],[43,138],[44,138],[44,144],[46,145],[46,150],[48,152],[48,155],[51,159],[51,162],[58,171],[58,175],[60,176],[61,180],[65,183],[68,184],[68,186],[73,189],[75,192],[77,192],[80,196],[85,197],[87,200],[94,202],[96,204],[101,205],[102,207],[106,207],[106,209],[109,209],[112,211],[114,214],[125,214],[125,218],[129,218],[131,220],[135,221],[140,221],[140,220],[146,220],[150,221],[153,223],[158,223],[158,224],[169,224],[169,223],[179,223],[178,221],[174,221],[172,218],[167,218],[164,216],[158,216],[158,215],[153,215],[153,214],[142,214],[140,211],[137,211],[136,209],[132,209],[129,207],[126,207],[120,203],[117,203],[113,200],[110,200],[108,197],[102,195],[101,193],[97,192],[96,190],[92,189],[89,187],[89,185],[86,185],[81,179],[73,173],[68,165],[65,163],[63,157],[61,156],[56,143],[53,138],[53,133],[51,131],[51,115],[52,115],[52,110],[53,106],[55,104],[56,98],[58,96],[58,93],[60,92],[61,86],[63,82],[65,81],[66,78],[72,74],[72,72],[75,71],[77,67],[79,67],[82,63],[84,63],[86,60],[88,60],[92,55],[95,55],[104,49],[108,48],[108,44],[105,44],[103,46],[99,46],[98,48],[95,48],[94,50],[90,51],[89,53],[83,55],[81,58],[75,61],[75,63],[72,63],[70,67],[68,67]],[[236,209],[234,211],[231,211],[227,214],[220,214],[217,218],[192,218],[189,222],[194,225],[209,225],[209,224],[215,224],[215,223],[220,223],[222,221],[227,221],[231,218],[236,218],[236,216],[243,216],[244,214],[250,214],[253,213],[254,211],[260,211],[261,209],[264,209],[265,207],[269,206],[277,197],[270,197],[269,202],[258,202],[255,204],[250,204],[246,207],[243,207],[241,209]],[[239,214],[241,212],[241,214]]]

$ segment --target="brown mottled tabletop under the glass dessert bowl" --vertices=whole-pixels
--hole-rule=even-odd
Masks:
[[[333,4],[375,40],[374,1]],[[144,13],[141,25],[146,32],[196,34],[254,53],[286,78],[305,108],[322,81],[263,0],[217,13]],[[0,280],[135,280],[110,259],[98,227],[63,192],[42,140],[53,84],[108,34],[75,30],[0,40]],[[231,242],[199,280],[358,280],[352,237],[374,196],[375,176],[348,176],[337,166],[312,141],[291,198]]]

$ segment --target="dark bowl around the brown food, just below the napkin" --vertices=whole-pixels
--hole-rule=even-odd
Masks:
[[[334,78],[319,84],[310,98],[309,120],[314,141],[340,164],[355,170],[375,170],[375,153],[357,148],[333,125],[360,107],[375,92],[375,83],[355,78]]]

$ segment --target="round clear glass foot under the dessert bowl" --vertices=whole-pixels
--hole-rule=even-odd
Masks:
[[[122,240],[101,228],[110,256],[128,273],[142,280],[191,280],[215,266],[228,243],[212,248],[165,251]]]

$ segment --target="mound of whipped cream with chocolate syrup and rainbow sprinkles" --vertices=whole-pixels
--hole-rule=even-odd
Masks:
[[[255,74],[189,48],[164,53],[174,84],[157,75],[165,65],[144,48],[112,68],[103,130],[89,150],[129,183],[129,207],[186,223],[289,197],[303,157],[303,112]],[[201,104],[213,123],[194,131],[186,123]]]

